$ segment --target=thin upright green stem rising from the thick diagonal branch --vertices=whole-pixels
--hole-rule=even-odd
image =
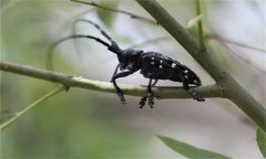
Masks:
[[[195,0],[195,7],[196,7],[196,14],[201,15],[202,14],[202,10],[201,10],[201,0]],[[205,44],[204,44],[204,34],[203,34],[203,25],[202,25],[202,20],[200,20],[197,22],[197,32],[198,32],[198,42],[200,42],[200,46],[201,49],[205,49]]]

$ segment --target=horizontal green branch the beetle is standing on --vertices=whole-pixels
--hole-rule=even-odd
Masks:
[[[112,83],[92,81],[83,77],[74,77],[74,76],[62,74],[62,73],[55,73],[51,71],[30,67],[27,65],[1,62],[0,70],[10,72],[10,73],[20,74],[20,75],[27,75],[30,77],[35,77],[35,78],[40,78],[49,82],[63,84],[66,88],[79,87],[79,88],[86,88],[86,89],[93,89],[93,91],[105,92],[105,93],[115,93],[115,89]],[[144,96],[146,93],[146,87],[144,86],[125,85],[125,84],[119,84],[119,85],[121,89],[123,89],[125,95]],[[200,92],[204,97],[223,97],[223,89],[221,89],[221,87],[217,85],[196,87],[196,91]],[[155,97],[157,98],[191,98],[187,92],[183,88],[153,87],[153,92]]]

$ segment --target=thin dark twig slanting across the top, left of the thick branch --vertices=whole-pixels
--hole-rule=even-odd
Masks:
[[[123,13],[125,15],[129,15],[132,19],[139,19],[139,20],[145,21],[145,22],[147,22],[150,24],[157,25],[156,21],[153,21],[151,19],[144,18],[144,17],[141,17],[141,15],[137,15],[135,13],[127,12],[127,11],[124,11],[124,10],[117,10],[117,9],[108,8],[108,7],[104,7],[104,6],[100,6],[100,4],[95,3],[95,2],[86,2],[86,1],[81,1],[81,0],[71,0],[71,1],[83,3],[83,4],[93,6],[93,7],[96,7],[96,8],[100,8],[100,9],[104,9],[104,10],[108,10],[108,11],[112,11],[112,12]]]

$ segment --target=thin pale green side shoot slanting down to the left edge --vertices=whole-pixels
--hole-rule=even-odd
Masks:
[[[22,109],[19,113],[16,113],[13,117],[11,117],[9,120],[4,121],[3,124],[0,125],[0,130],[3,130],[4,128],[7,128],[8,126],[10,126],[11,124],[13,124],[14,121],[17,121],[20,117],[22,117],[25,113],[30,112],[32,108],[34,108],[38,104],[40,104],[41,102],[48,99],[49,97],[52,97],[53,95],[62,92],[63,89],[65,89],[64,86],[57,88],[48,94],[45,94],[44,96],[40,97],[38,100],[35,100],[34,103],[30,104],[29,106],[27,106],[24,109]]]

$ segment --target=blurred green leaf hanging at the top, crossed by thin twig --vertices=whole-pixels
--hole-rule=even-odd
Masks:
[[[115,0],[102,0],[99,2],[100,6],[105,7],[105,8],[110,8],[110,9],[116,9],[117,8],[117,1]],[[96,8],[96,14],[99,17],[99,19],[108,26],[111,28],[112,26],[112,22],[116,15],[115,12],[113,11],[109,11],[106,9],[102,9],[102,8]]]

